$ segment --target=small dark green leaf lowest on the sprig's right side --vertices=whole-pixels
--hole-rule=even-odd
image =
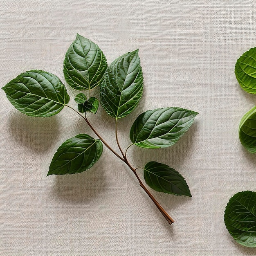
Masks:
[[[186,180],[168,165],[149,162],[144,167],[144,178],[155,191],[191,197]]]

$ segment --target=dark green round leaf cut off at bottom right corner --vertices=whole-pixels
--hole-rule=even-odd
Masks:
[[[237,243],[256,247],[256,193],[243,191],[235,194],[227,204],[224,222]]]

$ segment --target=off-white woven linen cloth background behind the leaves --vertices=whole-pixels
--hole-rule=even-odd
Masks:
[[[255,13],[253,0],[1,0],[1,87],[31,69],[64,81],[65,52],[79,33],[108,63],[139,48],[144,95],[119,122],[123,148],[141,112],[180,106],[200,115],[175,146],[128,151],[132,166],[162,162],[188,182],[192,198],[152,192],[174,218],[170,226],[106,147],[90,170],[46,177],[63,141],[92,132],[66,108],[50,118],[27,117],[1,91],[0,255],[255,255],[223,222],[231,196],[256,190],[256,156],[238,139],[256,96],[234,75],[236,59],[256,46]],[[75,106],[77,92],[68,92]],[[102,109],[90,119],[117,150],[114,119]]]

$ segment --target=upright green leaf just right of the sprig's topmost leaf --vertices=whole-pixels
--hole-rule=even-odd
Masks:
[[[139,50],[128,52],[111,63],[100,84],[101,106],[116,119],[134,110],[143,92]]]

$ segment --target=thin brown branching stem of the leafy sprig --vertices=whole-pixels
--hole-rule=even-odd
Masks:
[[[162,215],[164,216],[164,218],[168,221],[168,223],[171,225],[174,220],[168,215],[168,213],[163,209],[163,207],[157,202],[157,200],[153,197],[153,195],[148,191],[148,189],[144,186],[144,184],[141,182],[139,176],[136,173],[137,168],[133,168],[130,163],[128,162],[127,158],[126,158],[126,154],[124,155],[123,151],[121,150],[121,147],[119,145],[118,139],[117,139],[117,125],[116,125],[116,139],[117,139],[117,145],[123,155],[123,157],[121,157],[120,155],[118,155],[107,143],[106,141],[104,141],[102,139],[102,137],[98,134],[98,132],[93,128],[93,126],[90,124],[90,122],[88,121],[86,115],[83,116],[80,112],[78,112],[77,110],[75,110],[74,108],[72,108],[71,106],[65,105],[68,108],[71,108],[72,110],[74,110],[77,114],[79,114],[84,120],[85,122],[88,124],[88,126],[92,129],[92,131],[97,135],[97,137],[99,137],[99,139],[102,141],[102,143],[112,152],[114,153],[119,159],[121,159],[123,162],[125,162],[127,164],[127,166],[132,170],[132,172],[135,174],[137,180],[139,181],[139,185],[141,186],[141,188],[148,194],[148,196],[150,197],[150,199],[153,201],[153,203],[155,204],[155,206],[158,208],[158,210],[162,213]],[[131,144],[133,145],[133,144]],[[130,146],[131,146],[130,145]],[[129,146],[129,147],[130,147]],[[129,148],[128,147],[128,148]],[[127,149],[128,149],[127,148]],[[126,149],[126,152],[127,152]]]

